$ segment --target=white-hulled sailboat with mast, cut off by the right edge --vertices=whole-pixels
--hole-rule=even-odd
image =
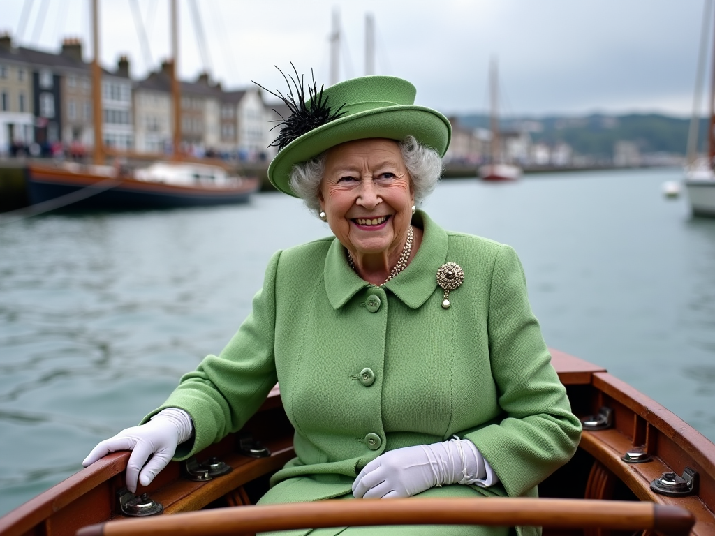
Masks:
[[[712,1],[706,0],[701,34],[700,58],[698,61],[698,76],[693,106],[693,120],[688,139],[688,163],[685,167],[684,184],[688,192],[691,211],[694,216],[715,217],[715,49],[711,51],[712,74],[710,84],[708,156],[696,159],[697,124],[699,121],[699,93],[702,86],[702,74],[707,56],[706,42],[709,33],[708,19],[712,14]]]

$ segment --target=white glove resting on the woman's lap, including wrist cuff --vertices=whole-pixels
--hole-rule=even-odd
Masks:
[[[352,483],[352,495],[365,499],[410,497],[448,484],[489,486],[498,481],[470,440],[390,450],[365,465]]]

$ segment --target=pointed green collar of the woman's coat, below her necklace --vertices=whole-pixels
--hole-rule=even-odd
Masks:
[[[447,258],[447,232],[421,210],[415,213],[412,222],[424,231],[420,249],[408,267],[385,283],[383,289],[393,292],[411,309],[417,309],[437,287],[437,270]],[[371,286],[347,264],[345,247],[337,238],[330,244],[325,257],[323,277],[327,299],[333,309],[340,309],[361,289]]]

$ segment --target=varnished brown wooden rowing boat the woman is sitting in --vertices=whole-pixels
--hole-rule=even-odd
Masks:
[[[208,462],[169,463],[151,485],[137,490],[133,503],[126,504],[133,496],[124,488],[129,453],[115,452],[0,517],[0,534],[218,535],[287,527],[474,522],[543,525],[546,536],[606,535],[606,528],[621,531],[613,535],[631,535],[636,529],[649,535],[715,535],[715,445],[601,367],[556,350],[552,356],[584,431],[576,455],[539,485],[539,499],[250,506],[267,489],[268,476],[294,456],[292,427],[276,387],[241,432],[197,457]],[[232,470],[211,480],[187,480],[186,475],[200,480],[212,468],[221,472],[215,458]],[[125,519],[154,503],[162,505],[161,515]]]

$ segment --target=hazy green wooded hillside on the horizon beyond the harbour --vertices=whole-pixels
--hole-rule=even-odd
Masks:
[[[488,129],[485,115],[458,116],[460,124],[468,128]],[[689,119],[659,114],[628,114],[611,116],[511,117],[500,121],[501,129],[526,129],[533,142],[556,144],[565,142],[576,154],[611,157],[613,146],[619,141],[635,142],[643,153],[666,152],[684,155],[688,140]],[[705,147],[706,119],[700,121],[701,150]]]

